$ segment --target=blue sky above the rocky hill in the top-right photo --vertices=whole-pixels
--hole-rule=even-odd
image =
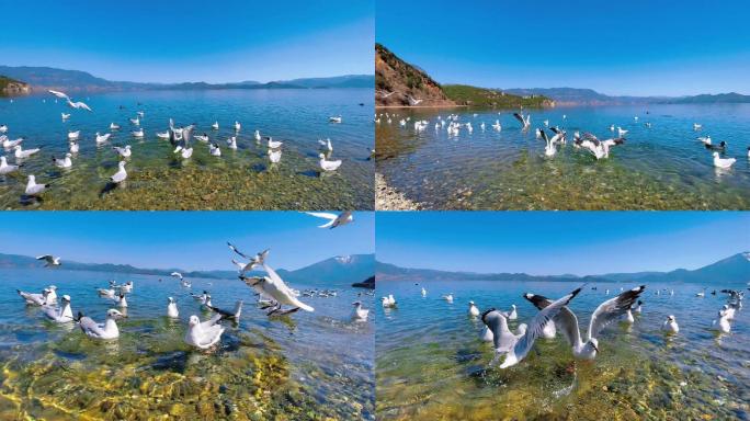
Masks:
[[[747,1],[377,0],[376,39],[441,83],[750,94]]]

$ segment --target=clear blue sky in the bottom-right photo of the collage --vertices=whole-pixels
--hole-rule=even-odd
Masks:
[[[378,213],[377,259],[404,268],[577,275],[696,269],[750,251],[731,212]]]

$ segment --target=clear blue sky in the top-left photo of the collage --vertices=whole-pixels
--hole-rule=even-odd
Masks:
[[[10,14],[0,65],[147,82],[373,73],[368,0],[0,0],[0,10]]]

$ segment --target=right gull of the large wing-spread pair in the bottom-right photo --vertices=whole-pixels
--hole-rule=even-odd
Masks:
[[[572,346],[573,356],[580,360],[595,359],[599,352],[599,340],[596,337],[607,325],[627,314],[644,289],[646,289],[646,286],[640,285],[600,304],[591,316],[586,341],[581,340],[576,315],[568,307],[560,308],[555,322]],[[553,304],[549,298],[536,294],[525,294],[524,298],[530,300],[539,310],[544,310]]]

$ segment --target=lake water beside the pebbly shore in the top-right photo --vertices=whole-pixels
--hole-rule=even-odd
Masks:
[[[648,111],[650,114],[646,114]],[[378,111],[379,112],[379,111]],[[384,110],[385,112],[385,110]],[[409,198],[435,209],[748,209],[750,208],[750,104],[559,107],[532,110],[532,129],[521,130],[513,111],[388,110],[400,114],[376,125],[377,170]],[[435,130],[440,115],[471,122],[448,137]],[[473,114],[478,113],[477,117]],[[562,120],[562,115],[567,120]],[[410,116],[405,128],[401,117]],[[638,123],[634,117],[638,116]],[[430,122],[424,132],[413,121]],[[491,128],[500,120],[501,132]],[[552,159],[534,128],[543,121],[568,132],[569,141]],[[479,128],[481,122],[487,127]],[[650,122],[651,128],[645,127]],[[693,123],[703,124],[694,132]],[[628,129],[610,159],[596,161],[573,149],[576,130],[611,138],[610,125]],[[736,157],[716,170],[696,140],[711,135]]]

